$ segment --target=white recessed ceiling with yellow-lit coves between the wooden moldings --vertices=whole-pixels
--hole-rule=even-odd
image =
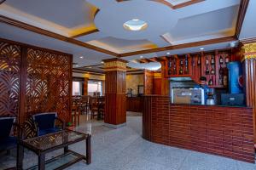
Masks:
[[[188,1],[166,0],[172,5]],[[0,14],[66,37],[98,29],[99,31],[95,33],[76,39],[122,54],[233,36],[239,5],[240,0],[206,0],[184,8],[172,9],[163,3],[148,0],[120,3],[115,0],[7,0],[0,5]],[[253,21],[255,11],[256,0],[251,0],[240,38],[256,37],[256,22]],[[138,32],[125,30],[124,22],[131,19],[146,21],[148,28]],[[113,58],[109,54],[3,23],[0,23],[0,37],[73,54],[73,60],[79,63],[79,66],[96,65],[102,59]],[[183,48],[172,50],[170,53],[193,53],[198,52],[200,48]],[[230,42],[206,45],[204,48],[205,50],[230,48]],[[166,51],[143,54],[143,57],[163,55],[166,55]],[[84,59],[80,59],[80,56],[84,56]],[[124,59],[140,59],[140,56],[129,56]]]

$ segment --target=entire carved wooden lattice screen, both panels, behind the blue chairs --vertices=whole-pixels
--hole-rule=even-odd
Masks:
[[[57,111],[70,121],[72,55],[0,39],[0,116],[22,123]]]

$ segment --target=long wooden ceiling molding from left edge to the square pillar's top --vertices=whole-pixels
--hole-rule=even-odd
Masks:
[[[47,30],[44,30],[42,28],[38,28],[37,26],[31,26],[31,25],[28,25],[24,22],[20,22],[19,20],[13,20],[13,19],[10,19],[10,18],[5,17],[3,15],[0,15],[0,22],[3,22],[3,23],[8,24],[10,26],[16,26],[16,27],[19,27],[19,28],[27,30],[27,31],[33,31],[33,32],[36,32],[38,34],[41,34],[41,35],[44,35],[44,36],[47,36],[47,37],[53,37],[53,38],[61,40],[63,42],[69,42],[69,43],[73,43],[75,45],[78,45],[78,46],[81,46],[81,47],[84,47],[84,48],[90,48],[90,49],[96,50],[98,52],[102,52],[104,54],[110,54],[110,55],[113,55],[113,56],[118,55],[116,53],[108,51],[107,49],[98,48],[96,46],[90,45],[89,43],[80,42],[79,40],[76,40],[76,39],[73,39],[73,38],[70,38],[70,37],[65,37],[65,36],[62,36],[62,35],[57,34],[55,32],[47,31]]]

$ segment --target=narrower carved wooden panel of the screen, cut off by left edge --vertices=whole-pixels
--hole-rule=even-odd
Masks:
[[[20,46],[0,42],[0,116],[18,116]]]

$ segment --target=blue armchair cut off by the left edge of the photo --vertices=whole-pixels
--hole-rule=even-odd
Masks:
[[[15,117],[0,117],[0,150],[10,150],[16,147],[17,138],[10,136]]]

